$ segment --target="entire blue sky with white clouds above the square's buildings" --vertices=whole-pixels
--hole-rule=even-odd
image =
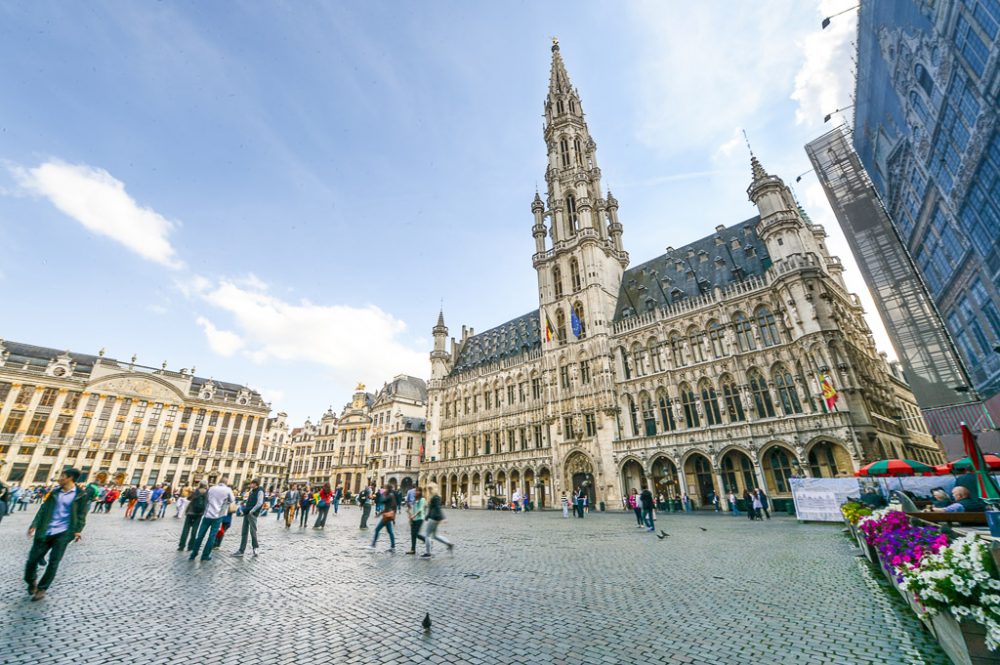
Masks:
[[[0,338],[248,384],[293,423],[537,307],[558,36],[633,265],[793,186],[851,0],[0,3]]]

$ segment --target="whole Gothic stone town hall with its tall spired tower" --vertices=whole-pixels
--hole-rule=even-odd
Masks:
[[[594,505],[648,487],[705,506],[754,487],[780,500],[793,476],[872,459],[943,461],[825,231],[755,156],[758,216],[630,268],[558,43],[544,112],[539,308],[450,345],[438,316],[421,482],[473,507],[515,490],[552,507],[580,487]]]

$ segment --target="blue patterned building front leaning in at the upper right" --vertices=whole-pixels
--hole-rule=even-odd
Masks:
[[[853,143],[968,370],[1000,393],[1000,0],[862,3]]]

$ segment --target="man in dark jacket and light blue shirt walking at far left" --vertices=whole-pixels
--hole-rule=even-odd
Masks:
[[[59,562],[70,542],[80,542],[83,527],[87,524],[87,503],[90,492],[78,485],[80,472],[74,468],[63,470],[59,486],[49,492],[42,507],[35,513],[28,528],[32,538],[28,561],[24,566],[24,581],[32,600],[41,600],[52,585]],[[38,566],[48,558],[42,579],[36,581]]]

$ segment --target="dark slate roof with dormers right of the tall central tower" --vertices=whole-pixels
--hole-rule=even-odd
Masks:
[[[753,217],[629,268],[622,276],[614,320],[763,274],[771,257],[757,235],[758,224],[760,217]]]

